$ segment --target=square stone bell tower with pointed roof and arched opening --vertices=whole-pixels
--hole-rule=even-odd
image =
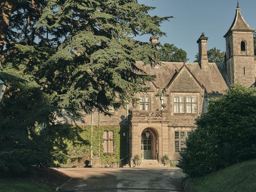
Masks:
[[[224,35],[226,38],[226,62],[228,80],[251,86],[255,83],[254,44],[251,28],[243,18],[237,4],[234,21]]]

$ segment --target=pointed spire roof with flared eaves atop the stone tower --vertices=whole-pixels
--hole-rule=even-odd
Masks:
[[[255,31],[252,27],[249,26],[249,24],[247,24],[247,22],[243,18],[243,15],[241,13],[241,9],[239,8],[239,6],[237,6],[236,16],[234,18],[234,21],[231,27],[229,28],[228,32],[224,35],[224,37],[226,38],[231,31],[252,31],[252,32]]]

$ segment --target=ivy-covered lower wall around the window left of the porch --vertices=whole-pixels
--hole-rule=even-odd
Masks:
[[[115,160],[126,157],[126,139],[128,137],[126,126],[93,126],[91,138],[91,126],[64,126],[60,131],[66,131],[70,139],[59,137],[54,140],[54,163],[63,167],[83,167],[85,161],[91,161],[91,144],[94,151],[99,151],[102,166],[111,164]],[[104,131],[113,131],[114,149],[113,153],[104,153],[103,134]],[[125,133],[125,135],[124,135]]]

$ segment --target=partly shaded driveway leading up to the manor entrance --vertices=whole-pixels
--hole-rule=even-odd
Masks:
[[[59,168],[73,177],[66,192],[181,192],[184,174],[170,168]]]

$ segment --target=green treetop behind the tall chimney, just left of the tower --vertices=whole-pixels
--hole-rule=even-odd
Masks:
[[[216,49],[215,47],[207,51],[208,60],[210,63],[224,63],[225,60],[225,52],[221,52],[220,49]],[[195,55],[196,60],[194,62],[199,62],[199,55]]]

